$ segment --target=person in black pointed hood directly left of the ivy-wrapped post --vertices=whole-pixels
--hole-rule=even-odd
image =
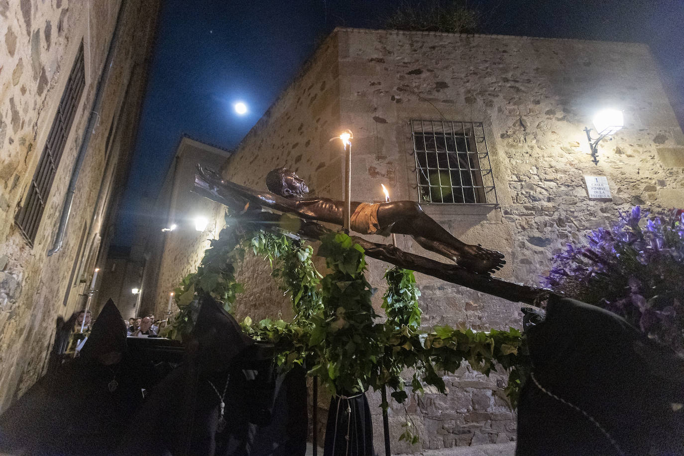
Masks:
[[[211,297],[198,304],[187,362],[151,392],[121,453],[303,455],[302,371],[276,375],[272,347],[255,345]]]

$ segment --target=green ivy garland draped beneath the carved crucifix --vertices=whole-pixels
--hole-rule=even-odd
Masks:
[[[226,224],[230,222],[235,219],[226,214]],[[235,280],[235,264],[251,248],[269,260],[272,276],[291,297],[295,318],[292,322],[265,319],[255,324],[246,317],[241,326],[252,338],[276,345],[276,361],[282,368],[305,366],[308,375],[319,377],[333,394],[388,386],[393,399],[403,403],[408,394],[402,373],[407,369],[413,371],[408,383],[414,392],[423,393],[431,386],[446,394],[438,372],[454,373],[467,361],[476,371],[489,375],[498,364],[509,371],[505,392],[516,407],[529,366],[520,331],[474,332],[449,326],[421,331],[415,277],[412,271],[397,267],[384,275],[388,289],[382,308],[387,318],[376,323],[379,316],[371,306],[375,290],[364,276],[363,247],[342,233],[332,233],[321,241],[318,254],[326,258],[331,270],[326,276],[313,265],[313,247],[287,232],[250,222],[227,226],[218,239],[211,240],[198,270],[175,290],[181,311],[171,325],[170,336],[179,338],[192,328],[197,293],[209,293],[231,311],[237,293],[243,290]],[[410,431],[402,438],[417,441]]]

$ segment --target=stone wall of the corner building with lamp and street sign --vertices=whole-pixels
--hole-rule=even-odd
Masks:
[[[601,143],[594,165],[583,128],[604,106],[623,109],[625,126]],[[328,138],[351,129],[352,199],[382,200],[384,183],[393,200],[417,201],[410,120],[482,122],[498,204],[423,209],[462,241],[503,252],[501,278],[538,284],[554,252],[607,226],[618,210],[684,201],[684,135],[647,46],[517,36],[337,29],[247,135],[224,176],[263,189],[268,170],[285,165],[313,193],[341,198],[343,152]],[[606,176],[612,200],[590,200],[584,175]],[[399,247],[434,257],[408,237],[399,236]],[[376,306],[385,267],[369,260]],[[425,327],[521,325],[519,304],[421,274],[417,281]],[[392,407],[393,451],[514,439],[504,375],[462,366],[445,381],[447,396],[414,396],[408,405],[417,447],[397,442],[404,408]],[[380,401],[369,399],[382,448]]]

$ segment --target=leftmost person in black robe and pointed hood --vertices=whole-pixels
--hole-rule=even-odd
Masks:
[[[81,358],[43,377],[0,417],[0,452],[114,454],[142,403],[140,373],[127,357],[124,323],[109,299]]]

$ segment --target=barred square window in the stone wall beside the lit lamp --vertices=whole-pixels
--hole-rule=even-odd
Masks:
[[[419,202],[497,204],[482,122],[410,124]]]

